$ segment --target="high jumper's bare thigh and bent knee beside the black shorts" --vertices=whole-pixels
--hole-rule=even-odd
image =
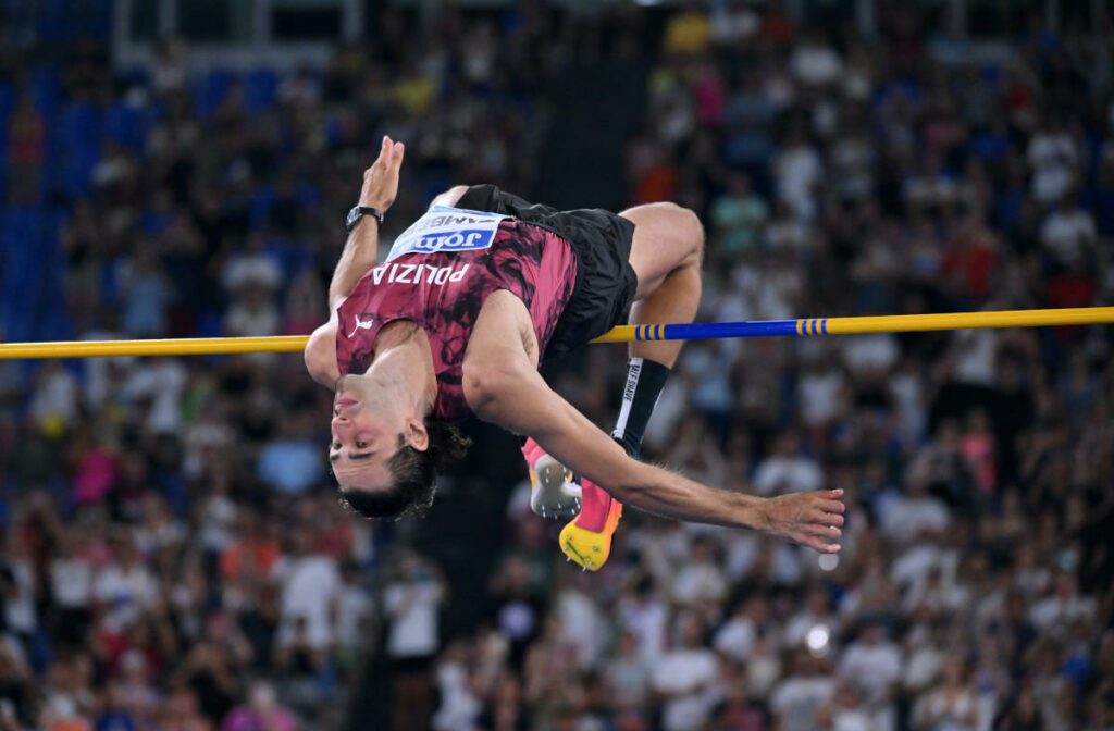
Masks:
[[[634,223],[628,261],[638,275],[636,300],[652,294],[674,270],[700,264],[704,230],[688,208],[649,203],[619,215]]]

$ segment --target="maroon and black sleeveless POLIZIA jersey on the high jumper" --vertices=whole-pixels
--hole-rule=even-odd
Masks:
[[[426,331],[433,355],[433,416],[463,419],[470,415],[461,382],[465,349],[483,301],[497,290],[509,291],[526,305],[540,360],[573,296],[571,246],[546,228],[514,218],[499,221],[489,241],[488,247],[451,252],[397,255],[392,250],[391,259],[369,270],[338,309],[341,374],[367,372],[379,331],[389,322],[411,320]]]

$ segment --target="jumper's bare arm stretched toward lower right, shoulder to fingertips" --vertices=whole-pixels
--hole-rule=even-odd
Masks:
[[[678,520],[765,530],[823,553],[839,550],[841,490],[761,498],[717,490],[631,459],[554,392],[514,345],[488,352],[471,368],[466,360],[463,384],[478,417],[532,437],[560,464],[626,505]]]

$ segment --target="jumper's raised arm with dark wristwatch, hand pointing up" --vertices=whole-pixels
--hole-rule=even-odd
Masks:
[[[383,137],[379,157],[363,172],[360,205],[387,212],[399,193],[399,169],[405,147],[402,143]],[[379,262],[379,225],[367,221],[356,224],[341,253],[333,280],[329,284],[329,322],[310,335],[305,344],[305,368],[313,380],[325,388],[333,388],[340,373],[336,368],[336,308],[352,294],[356,282]]]

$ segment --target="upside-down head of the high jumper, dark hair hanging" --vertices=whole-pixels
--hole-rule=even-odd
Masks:
[[[421,513],[433,503],[438,474],[463,456],[468,440],[405,399],[353,386],[333,405],[329,460],[341,496],[369,518]]]

